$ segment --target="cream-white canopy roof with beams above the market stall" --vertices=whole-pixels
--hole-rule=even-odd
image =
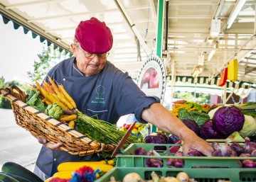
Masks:
[[[228,28],[228,21],[245,0],[0,0],[4,22],[14,21],[40,40],[70,52],[75,28],[92,16],[105,21],[114,37],[108,59],[136,79],[150,54],[156,54],[157,30],[163,25],[161,57],[167,75],[191,76],[202,64],[200,76],[217,79],[228,62],[238,58],[238,81],[256,81],[255,0],[247,0]],[[164,6],[159,7],[159,2]],[[158,15],[164,14],[159,23]],[[210,35],[212,20],[220,20],[218,36]],[[168,20],[168,21],[166,21]],[[213,28],[212,28],[213,29]],[[210,58],[211,53],[213,57]],[[203,59],[198,59],[198,56]]]

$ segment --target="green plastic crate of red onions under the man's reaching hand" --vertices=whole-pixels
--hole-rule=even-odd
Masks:
[[[127,149],[125,149],[122,154],[118,154],[116,156],[116,167],[122,168],[146,168],[146,159],[163,159],[164,166],[161,169],[170,169],[167,166],[167,159],[183,159],[184,168],[240,168],[239,163],[240,160],[243,159],[252,159],[256,160],[256,157],[176,157],[174,154],[170,154],[166,156],[167,153],[163,153],[163,151],[159,152],[160,157],[157,156],[138,156],[133,155],[135,149],[137,147],[144,147],[146,151],[149,149],[154,149],[155,144],[130,144]],[[166,146],[168,149],[173,144],[159,144],[157,146]],[[256,171],[256,169],[254,169]]]

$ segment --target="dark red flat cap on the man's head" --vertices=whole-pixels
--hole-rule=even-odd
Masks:
[[[111,50],[113,37],[110,28],[105,22],[92,17],[88,21],[81,21],[75,29],[75,39],[78,40],[83,50],[95,54]]]

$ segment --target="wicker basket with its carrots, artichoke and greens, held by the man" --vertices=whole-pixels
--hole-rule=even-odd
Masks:
[[[51,143],[62,142],[60,150],[70,154],[112,152],[124,135],[115,125],[82,114],[64,87],[52,79],[50,84],[36,82],[28,95],[17,86],[0,93],[11,101],[17,125]],[[132,142],[131,136],[127,146]]]

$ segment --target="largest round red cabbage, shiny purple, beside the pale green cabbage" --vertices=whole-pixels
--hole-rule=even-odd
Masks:
[[[225,137],[242,130],[244,123],[245,115],[236,106],[223,106],[213,115],[213,127]]]

